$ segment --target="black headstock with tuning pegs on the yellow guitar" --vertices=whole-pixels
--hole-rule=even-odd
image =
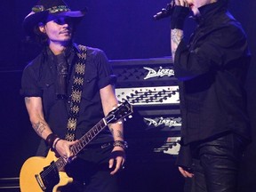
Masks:
[[[105,117],[107,124],[114,124],[126,116],[132,114],[132,105],[127,101],[120,103],[119,106],[108,113]]]

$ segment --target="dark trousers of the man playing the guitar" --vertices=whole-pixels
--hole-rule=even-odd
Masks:
[[[84,150],[85,159],[76,158],[66,166],[68,176],[74,182],[61,189],[61,192],[118,192],[118,172],[110,175],[108,159],[112,145],[101,148],[101,145]]]

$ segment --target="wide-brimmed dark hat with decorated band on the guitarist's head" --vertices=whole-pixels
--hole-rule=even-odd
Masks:
[[[48,14],[63,15],[72,18],[82,18],[86,8],[82,11],[71,11],[68,5],[62,0],[39,0],[23,20],[23,28],[28,36],[34,35],[34,28],[39,22],[44,21]]]

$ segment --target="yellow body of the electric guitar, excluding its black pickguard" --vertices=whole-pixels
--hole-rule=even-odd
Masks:
[[[56,161],[58,158],[55,154],[49,150],[46,157],[33,156],[22,165],[20,170],[20,191],[21,192],[44,192],[36,180],[36,174],[39,174],[44,170],[44,167],[49,166],[52,161]],[[53,188],[47,188],[45,191],[60,192],[60,188],[68,185],[73,181],[69,178],[66,172],[59,172],[60,181]],[[42,180],[41,180],[42,181]]]

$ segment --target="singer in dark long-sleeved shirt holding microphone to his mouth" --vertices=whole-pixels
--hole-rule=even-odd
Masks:
[[[198,25],[187,44],[189,11]],[[175,0],[171,28],[182,116],[177,164],[185,191],[235,192],[251,140],[244,90],[251,55],[244,30],[228,12],[228,0]]]

